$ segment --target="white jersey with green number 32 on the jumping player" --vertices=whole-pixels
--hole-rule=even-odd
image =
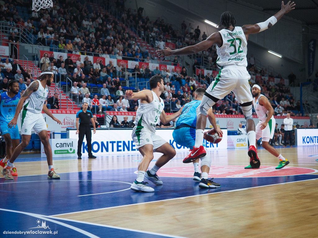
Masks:
[[[217,65],[221,69],[226,66],[247,67],[247,41],[242,27],[231,30],[220,30],[223,45],[217,48]]]

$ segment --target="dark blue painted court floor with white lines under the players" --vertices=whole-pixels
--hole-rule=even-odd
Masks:
[[[14,180],[0,179],[1,237],[35,237],[35,234],[3,234],[3,231],[37,230],[53,232],[45,234],[46,237],[176,237],[51,216],[318,178],[318,175],[311,174],[217,178],[214,181],[220,183],[221,188],[200,189],[198,182],[192,178],[162,177],[162,186],[150,184],[155,189],[154,193],[141,193],[130,189],[130,184],[136,178],[135,170],[129,168],[62,173],[61,180],[50,180],[46,175],[19,176]],[[50,229],[37,228],[42,226],[43,221],[44,227],[48,226]],[[54,231],[58,233],[54,235]]]

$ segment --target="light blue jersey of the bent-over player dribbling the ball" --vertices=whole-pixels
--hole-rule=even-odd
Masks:
[[[201,101],[199,100],[193,100],[184,105],[182,113],[176,122],[176,127],[183,124],[187,124],[193,128],[196,128],[197,107],[200,105],[200,102]]]

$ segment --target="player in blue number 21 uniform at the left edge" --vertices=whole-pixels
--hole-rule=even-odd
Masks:
[[[5,141],[5,150],[7,156],[0,161],[0,165],[4,167],[7,161],[12,155],[12,151],[16,149],[20,143],[19,129],[9,128],[8,123],[13,118],[17,103],[20,99],[21,93],[19,93],[19,82],[11,80],[8,84],[8,92],[0,94],[0,131]],[[11,175],[17,176],[17,169],[12,164]],[[4,171],[1,173],[6,177]]]

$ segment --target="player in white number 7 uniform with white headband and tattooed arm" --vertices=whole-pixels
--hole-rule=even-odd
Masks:
[[[58,175],[53,169],[52,150],[49,144],[49,139],[47,137],[46,122],[41,115],[41,112],[43,110],[43,112],[45,112],[46,115],[50,116],[52,120],[61,124],[61,121],[55,118],[44,104],[48,94],[48,86],[50,86],[53,82],[53,78],[54,74],[51,71],[42,71],[37,80],[33,81],[24,91],[17,104],[16,113],[12,120],[9,122],[8,126],[9,128],[16,127],[17,118],[19,116],[19,112],[21,112],[22,142],[13,151],[10,160],[7,162],[7,165],[2,170],[5,174],[6,179],[13,179],[10,173],[11,166],[13,165],[13,162],[15,161],[17,156],[29,144],[32,129],[35,131],[35,133],[38,134],[44,146],[47,163],[49,165],[49,172],[47,177],[52,179],[60,178],[60,175]]]

